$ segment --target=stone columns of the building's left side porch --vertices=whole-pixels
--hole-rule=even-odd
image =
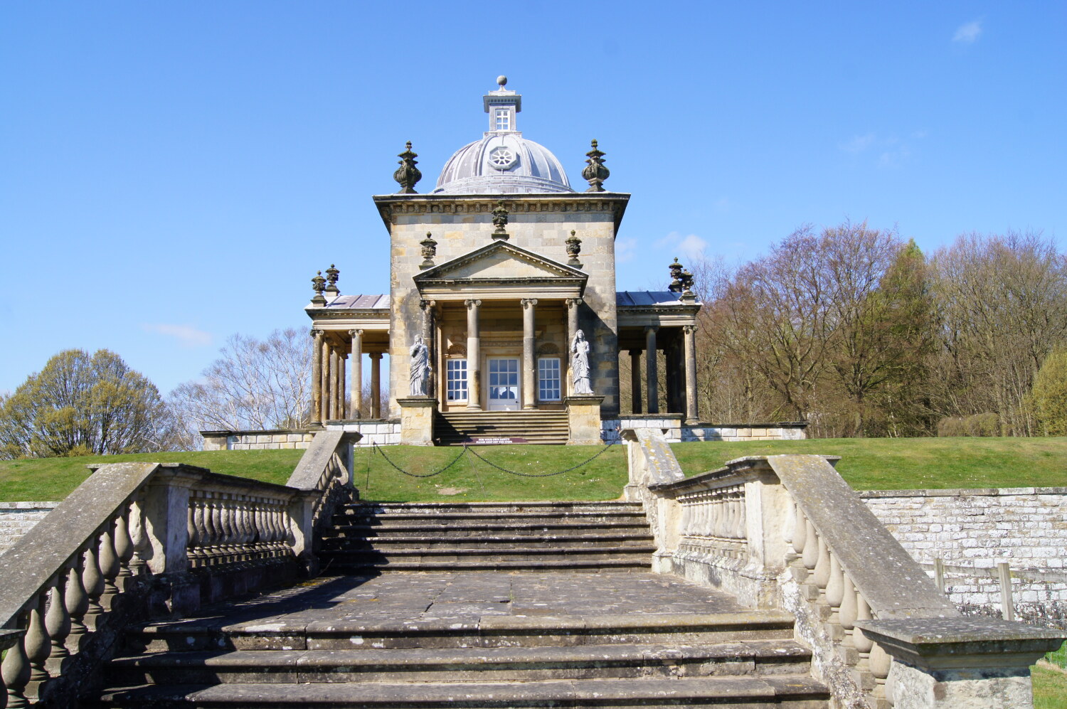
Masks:
[[[360,418],[363,407],[363,335],[362,329],[350,329],[351,343],[336,342],[325,331],[313,329],[312,338],[312,423]],[[346,347],[347,344],[347,347]],[[370,357],[370,418],[381,418],[381,352],[367,353]],[[351,359],[350,373],[346,364]],[[350,394],[345,396],[346,374],[350,380]]]

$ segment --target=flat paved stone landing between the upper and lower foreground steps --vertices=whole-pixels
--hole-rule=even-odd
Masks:
[[[587,619],[596,625],[598,616],[617,622],[624,615],[640,625],[637,618],[651,615],[746,612],[727,594],[656,574],[464,571],[320,578],[155,627],[282,635],[305,628],[396,628],[398,623],[447,628],[480,618],[491,625],[495,617],[529,618],[535,626],[545,617],[580,618],[584,626]]]

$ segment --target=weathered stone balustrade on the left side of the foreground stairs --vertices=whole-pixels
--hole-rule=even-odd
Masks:
[[[6,706],[73,706],[127,623],[316,573],[316,517],[351,499],[349,455],[349,434],[321,433],[288,485],[188,465],[96,466],[0,555]]]

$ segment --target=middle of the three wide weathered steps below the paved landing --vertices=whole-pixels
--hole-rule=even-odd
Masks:
[[[530,681],[807,674],[793,641],[345,650],[160,652],[120,658],[109,683]],[[269,675],[267,677],[266,675]]]

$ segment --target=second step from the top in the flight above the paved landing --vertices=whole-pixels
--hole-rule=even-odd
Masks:
[[[424,536],[427,532],[426,525],[419,523],[398,523],[398,525],[334,525],[323,531],[322,538],[329,539],[345,536],[366,536],[366,537],[404,537]],[[633,522],[523,522],[523,523],[488,523],[477,525],[452,523],[447,526],[436,526],[433,529],[435,536],[462,537],[477,536],[482,534],[493,534],[507,532],[517,536],[542,536],[545,534],[564,534],[574,538],[577,536],[603,534],[635,536],[648,536],[649,523],[641,519]]]

